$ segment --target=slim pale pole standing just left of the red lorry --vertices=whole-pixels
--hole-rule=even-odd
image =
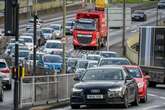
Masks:
[[[63,0],[63,74],[66,73],[66,0]]]

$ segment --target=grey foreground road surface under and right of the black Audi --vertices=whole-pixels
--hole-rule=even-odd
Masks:
[[[139,106],[129,106],[128,109],[123,109],[118,105],[107,106],[82,106],[83,110],[164,110],[165,109],[165,86],[158,85],[157,88],[148,89],[148,101],[147,103],[140,103]],[[52,110],[71,110],[70,106],[56,108]]]

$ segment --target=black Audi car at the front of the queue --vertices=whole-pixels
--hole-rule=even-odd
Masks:
[[[121,66],[88,69],[72,88],[70,104],[73,109],[80,105],[128,104],[138,105],[138,86]]]

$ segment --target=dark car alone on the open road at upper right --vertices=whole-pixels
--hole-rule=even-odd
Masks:
[[[132,21],[146,21],[147,15],[143,11],[135,11],[132,14]]]

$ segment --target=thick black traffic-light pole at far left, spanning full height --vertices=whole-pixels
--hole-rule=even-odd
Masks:
[[[18,56],[19,56],[19,4],[18,0],[12,1],[12,7],[13,7],[13,30],[14,30],[14,36],[15,36],[15,68],[16,73],[14,77],[14,110],[18,110],[19,108],[19,78],[18,78]]]

